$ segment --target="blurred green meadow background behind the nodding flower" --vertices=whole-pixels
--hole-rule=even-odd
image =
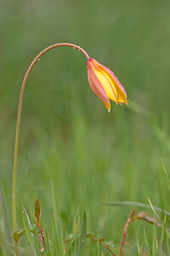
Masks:
[[[0,178],[11,227],[20,86],[33,58],[60,42],[82,46],[109,67],[127,90],[129,105],[112,102],[107,113],[89,87],[86,59],[77,49],[42,56],[26,84],[20,132],[17,191],[31,219],[39,197],[51,223],[51,179],[64,229],[71,233],[80,205],[88,231],[98,228],[116,246],[133,207],[100,202],[148,204],[149,197],[160,207],[160,186],[170,211],[161,166],[161,158],[170,166],[169,26],[169,1],[0,1]],[[152,229],[133,224],[128,241],[142,237],[143,227]]]

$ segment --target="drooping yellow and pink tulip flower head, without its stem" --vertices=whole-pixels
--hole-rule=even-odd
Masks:
[[[126,90],[108,67],[91,58],[87,61],[87,67],[88,82],[109,112],[111,112],[110,100],[116,104],[128,104]]]

